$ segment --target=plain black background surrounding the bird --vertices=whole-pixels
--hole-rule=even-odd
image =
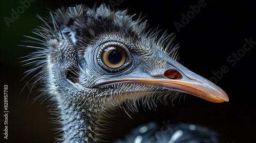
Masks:
[[[11,18],[11,9],[21,6],[19,1],[1,1],[1,86],[8,85],[8,140],[3,135],[3,96],[1,101],[1,139],[4,142],[54,142],[54,131],[51,130],[49,115],[45,106],[33,99],[29,89],[20,93],[24,87],[24,76],[27,67],[22,66],[22,59],[33,52],[33,49],[17,46],[24,44],[23,35],[31,35],[30,31],[42,21],[36,14],[48,16],[49,9],[60,6],[75,6],[86,4],[93,6],[102,2],[118,9],[128,9],[130,14],[145,15],[150,27],[157,27],[168,33],[175,33],[175,44],[179,43],[179,62],[195,73],[210,79],[212,71],[221,70],[226,66],[228,71],[222,73],[217,85],[229,96],[227,103],[210,103],[205,100],[187,95],[185,99],[175,100],[173,105],[162,106],[156,111],[141,111],[131,113],[133,119],[123,114],[112,129],[115,138],[127,132],[128,129],[148,121],[159,123],[195,123],[215,129],[220,133],[220,142],[255,142],[255,47],[244,51],[244,39],[256,42],[256,10],[252,1],[205,1],[205,7],[191,15],[191,18],[180,32],[174,22],[182,23],[181,14],[191,11],[189,6],[198,5],[199,0],[193,1],[39,1],[31,2],[25,11],[19,14],[14,22],[7,26],[4,17]],[[247,46],[248,47],[248,46]],[[238,53],[239,52],[239,53]],[[244,53],[243,53],[244,52]],[[239,54],[236,63],[227,58]],[[232,58],[234,59],[234,58]],[[219,72],[220,73],[220,72]],[[4,95],[4,93],[2,94]],[[120,130],[120,127],[122,128]],[[1,141],[1,142],[3,142]]]

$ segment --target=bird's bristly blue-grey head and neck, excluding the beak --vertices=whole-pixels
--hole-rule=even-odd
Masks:
[[[108,141],[104,132],[115,110],[137,111],[138,102],[154,108],[157,102],[180,97],[180,90],[154,84],[106,82],[123,76],[165,76],[174,68],[167,57],[177,59],[172,35],[146,31],[141,18],[134,20],[126,10],[112,11],[106,5],[61,8],[49,18],[39,18],[45,25],[33,33],[41,38],[27,37],[41,46],[28,46],[37,51],[25,62],[32,66],[27,75],[36,71],[34,78],[39,77],[34,82],[40,83],[39,98],[50,101],[50,111],[58,116],[57,142]],[[113,64],[118,58],[102,58],[118,52],[125,53],[121,65]]]

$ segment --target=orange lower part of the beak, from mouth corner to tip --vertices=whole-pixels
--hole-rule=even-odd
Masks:
[[[173,91],[189,93],[196,97],[205,99],[210,102],[221,103],[228,102],[228,96],[220,87],[204,79],[200,80],[170,80],[170,79],[150,79],[150,78],[122,78],[106,82],[99,82],[98,85],[113,84],[113,83],[138,83],[152,86],[164,87]]]

